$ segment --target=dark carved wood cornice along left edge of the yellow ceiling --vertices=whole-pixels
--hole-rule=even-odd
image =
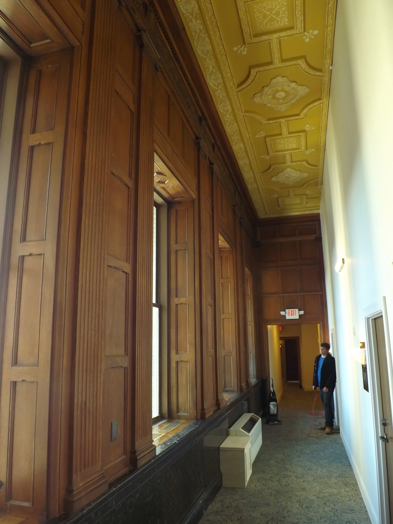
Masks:
[[[244,208],[244,199],[238,189],[236,189],[235,183],[222,161],[219,149],[217,148],[217,151],[215,151],[216,147],[213,149],[211,136],[214,136],[215,133],[210,127],[208,119],[205,117],[199,97],[195,93],[187,71],[185,71],[182,61],[178,56],[176,47],[173,45],[156,3],[154,0],[148,0],[148,4],[144,0],[125,1],[127,7],[136,16],[140,26],[143,27],[144,31],[141,32],[145,33],[144,38],[146,40],[149,39],[149,45],[154,49],[155,56],[159,57],[161,70],[166,73],[172,89],[178,95],[179,101],[190,118],[190,124],[194,128],[195,134],[200,137],[199,141],[203,144],[206,155],[220,172],[222,183],[227,192],[239,208],[242,208],[242,206]],[[148,9],[146,9],[146,6],[148,6]],[[155,23],[152,22],[153,17]],[[160,28],[161,34],[157,31],[157,25]],[[208,133],[208,131],[210,133]],[[249,214],[248,210],[246,213],[247,215]],[[244,220],[247,222],[249,231],[252,231],[252,223],[254,221],[250,216],[247,216],[246,213],[244,213]]]

